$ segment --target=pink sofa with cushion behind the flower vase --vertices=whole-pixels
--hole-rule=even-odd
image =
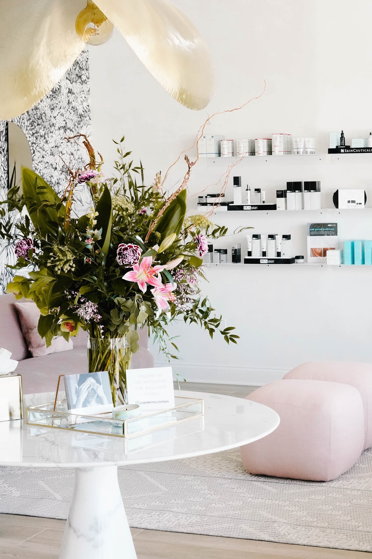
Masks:
[[[51,353],[43,357],[31,357],[22,335],[12,294],[0,295],[0,347],[12,352],[18,361],[17,373],[22,375],[23,393],[56,390],[59,375],[88,372],[87,334],[80,331],[73,338],[74,349]],[[133,356],[133,368],[153,367],[154,359],[147,349],[147,333],[140,332],[141,348]]]

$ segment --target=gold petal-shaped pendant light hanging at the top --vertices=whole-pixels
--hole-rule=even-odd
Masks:
[[[176,101],[194,110],[206,107],[214,82],[209,50],[169,0],[86,2],[0,0],[0,119],[40,101],[85,45],[104,44],[114,26]]]

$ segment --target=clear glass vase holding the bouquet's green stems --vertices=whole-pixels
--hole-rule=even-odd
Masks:
[[[88,372],[108,371],[114,406],[128,404],[131,348],[123,338],[88,338]]]

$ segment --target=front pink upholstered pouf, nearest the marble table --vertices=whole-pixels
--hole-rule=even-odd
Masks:
[[[267,437],[241,447],[250,473],[329,481],[355,464],[364,447],[359,392],[338,382],[282,380],[247,396],[281,418]]]

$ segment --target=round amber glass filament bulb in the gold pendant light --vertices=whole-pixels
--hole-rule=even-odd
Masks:
[[[86,8],[76,17],[75,29],[86,44],[103,45],[110,39],[114,26],[99,7],[88,0]]]

